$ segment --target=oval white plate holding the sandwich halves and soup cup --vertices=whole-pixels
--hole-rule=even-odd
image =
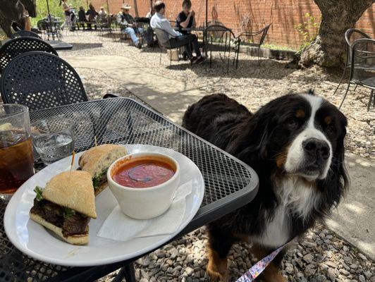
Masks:
[[[29,218],[29,211],[35,198],[35,192],[32,190],[36,185],[44,187],[52,176],[62,171],[68,171],[71,157],[67,157],[36,173],[11,198],[4,214],[4,227],[11,243],[26,255],[43,262],[64,266],[94,266],[121,262],[145,254],[163,245],[182,231],[195,216],[203,200],[204,180],[199,168],[183,154],[171,149],[149,145],[125,145],[125,147],[129,154],[161,152],[175,158],[181,168],[180,183],[190,180],[186,179],[187,174],[193,176],[191,178],[192,193],[186,197],[185,216],[176,233],[135,238],[126,242],[97,237],[100,226],[116,205],[116,199],[107,188],[95,200],[98,217],[90,221],[90,243],[88,245],[70,245],[56,238],[46,228],[32,221]],[[78,168],[78,159],[81,154],[76,154],[74,168]],[[187,171],[190,173],[186,173]]]

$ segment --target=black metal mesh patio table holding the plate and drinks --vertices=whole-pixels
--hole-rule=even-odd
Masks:
[[[102,99],[33,111],[31,121],[54,116],[75,120],[75,151],[98,144],[145,144],[174,149],[192,159],[204,177],[205,192],[196,216],[174,239],[233,212],[249,203],[257,193],[257,174],[209,142],[193,135],[134,99]],[[0,202],[4,216],[5,204]],[[0,226],[0,281],[94,281],[131,261],[103,266],[68,268],[39,262],[16,250]],[[147,255],[147,254],[143,254]],[[142,256],[143,256],[142,255]],[[130,279],[131,280],[131,279]]]

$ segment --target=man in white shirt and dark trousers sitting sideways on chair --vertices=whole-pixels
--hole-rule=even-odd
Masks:
[[[166,34],[168,35],[168,38],[161,39],[164,42],[160,42],[161,44],[171,44],[169,47],[182,47],[185,45],[192,44],[192,47],[195,51],[195,54],[197,56],[192,56],[190,50],[189,50],[189,59],[192,63],[203,63],[204,57],[202,56],[200,50],[199,50],[199,44],[198,39],[195,35],[183,35],[182,33],[173,30],[171,23],[169,23],[169,20],[165,18],[166,13],[166,4],[164,4],[162,1],[156,1],[155,3],[155,11],[156,13],[154,16],[152,16],[150,25],[155,30],[158,28],[159,30],[164,30]]]

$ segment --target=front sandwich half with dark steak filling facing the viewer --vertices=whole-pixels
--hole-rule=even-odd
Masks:
[[[66,171],[49,180],[37,196],[30,219],[54,231],[73,245],[89,242],[89,221],[96,219],[94,188],[90,173]]]

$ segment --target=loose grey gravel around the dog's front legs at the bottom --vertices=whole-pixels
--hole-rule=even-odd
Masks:
[[[137,281],[208,281],[206,244],[207,237],[201,228],[138,259],[135,264]],[[248,247],[245,243],[232,247],[228,281],[235,281],[257,262]],[[375,281],[374,262],[321,224],[316,224],[300,244],[290,247],[281,269],[288,281]],[[99,281],[111,281],[116,273]]]

